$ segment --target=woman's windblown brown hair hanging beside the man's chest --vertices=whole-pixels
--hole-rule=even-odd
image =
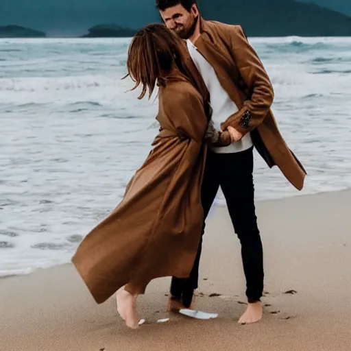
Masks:
[[[182,40],[159,23],[147,25],[135,34],[128,50],[128,74],[125,77],[129,75],[135,82],[132,90],[141,86],[138,99],[143,99],[147,90],[150,98],[156,84],[164,86],[167,73],[174,67],[193,83],[191,73],[184,64],[181,45]]]

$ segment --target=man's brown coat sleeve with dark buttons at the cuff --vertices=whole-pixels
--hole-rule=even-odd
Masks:
[[[241,77],[250,90],[250,99],[244,102],[243,107],[232,114],[224,123],[222,130],[231,126],[246,134],[256,128],[267,116],[274,99],[274,90],[258,58],[256,51],[247,40],[240,25],[230,25],[227,29],[228,41],[232,56],[237,64]]]

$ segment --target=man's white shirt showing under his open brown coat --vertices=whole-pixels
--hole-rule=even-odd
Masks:
[[[213,109],[212,120],[215,128],[221,130],[221,123],[226,121],[228,117],[238,111],[237,105],[230,99],[226,90],[223,89],[217,74],[208,61],[202,56],[197,48],[190,40],[186,40],[188,50],[190,53],[195,66],[201,73],[202,78],[207,86],[208,92],[210,93],[210,104]],[[252,140],[250,133],[245,134],[241,141],[237,141],[225,147],[210,147],[213,152],[219,154],[230,154],[233,152],[241,152],[252,147]]]

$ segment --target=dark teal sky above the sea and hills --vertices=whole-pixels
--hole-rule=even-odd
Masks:
[[[201,1],[205,0],[199,0],[200,6]],[[235,5],[235,0],[228,1]],[[300,1],[315,2],[351,16],[351,0]],[[0,0],[0,25],[23,25],[49,36],[81,35],[88,27],[103,23],[138,28],[155,21],[159,16],[154,0]]]

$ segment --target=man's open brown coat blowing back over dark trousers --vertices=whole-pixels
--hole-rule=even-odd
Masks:
[[[287,180],[301,190],[306,171],[282,138],[271,104],[274,91],[269,77],[240,25],[201,19],[195,45],[213,66],[221,86],[239,111],[223,121],[243,134],[251,133],[254,146],[269,167],[277,165]]]

